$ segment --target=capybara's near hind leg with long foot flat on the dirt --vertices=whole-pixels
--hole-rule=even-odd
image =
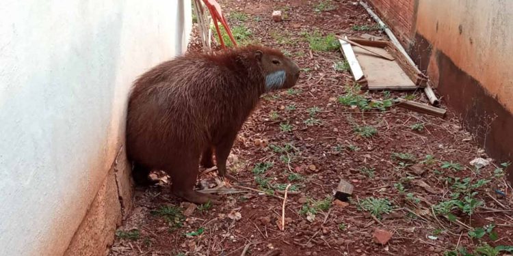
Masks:
[[[184,158],[180,165],[174,165],[171,173],[172,193],[177,197],[181,197],[191,203],[203,204],[211,201],[212,203],[220,203],[219,197],[199,193],[194,190],[194,184],[198,178],[198,158]]]

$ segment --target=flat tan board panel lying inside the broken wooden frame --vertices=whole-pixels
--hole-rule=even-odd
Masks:
[[[370,46],[369,46],[370,47]],[[373,51],[386,54],[384,48],[371,47]],[[396,61],[382,59],[368,51],[353,46],[353,52],[360,64],[365,79],[367,79],[367,89],[369,90],[414,90],[418,89],[408,74],[399,66]]]

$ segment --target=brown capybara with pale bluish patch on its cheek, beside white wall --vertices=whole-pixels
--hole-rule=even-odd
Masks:
[[[300,68],[263,46],[187,54],[138,78],[127,115],[127,153],[137,184],[153,169],[172,178],[172,192],[193,203],[219,197],[193,190],[200,163],[221,177],[237,132],[262,94],[295,85]]]

